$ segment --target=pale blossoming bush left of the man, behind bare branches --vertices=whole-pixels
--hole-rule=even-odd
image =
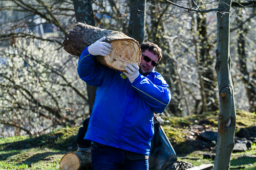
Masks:
[[[1,65],[1,123],[28,134],[75,125],[86,97],[77,89],[78,77],[63,71],[75,69],[72,58],[49,42],[17,39],[16,45]]]

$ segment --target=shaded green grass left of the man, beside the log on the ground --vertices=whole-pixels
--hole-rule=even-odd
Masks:
[[[35,137],[0,138],[0,169],[60,169],[59,161],[75,152],[78,128],[61,128]]]

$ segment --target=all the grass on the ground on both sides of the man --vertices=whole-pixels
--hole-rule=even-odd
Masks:
[[[186,161],[195,166],[214,164],[214,160],[203,159],[203,154],[214,154],[216,143],[199,143],[191,138],[191,127],[217,131],[218,112],[187,117],[164,117],[162,125],[172,143],[178,161]],[[256,115],[237,111],[237,132],[241,128],[254,130]],[[59,162],[68,152],[76,152],[75,142],[78,128],[61,128],[40,136],[12,136],[0,138],[0,169],[60,169]],[[195,132],[196,133],[196,132]],[[194,135],[195,136],[195,135]],[[186,159],[184,159],[184,157]],[[193,159],[193,158],[198,159]],[[231,168],[256,169],[256,144],[246,152],[232,153]]]

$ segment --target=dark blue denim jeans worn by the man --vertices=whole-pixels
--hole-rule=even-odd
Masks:
[[[129,160],[126,151],[108,146],[92,143],[93,170],[148,170],[148,159]]]

